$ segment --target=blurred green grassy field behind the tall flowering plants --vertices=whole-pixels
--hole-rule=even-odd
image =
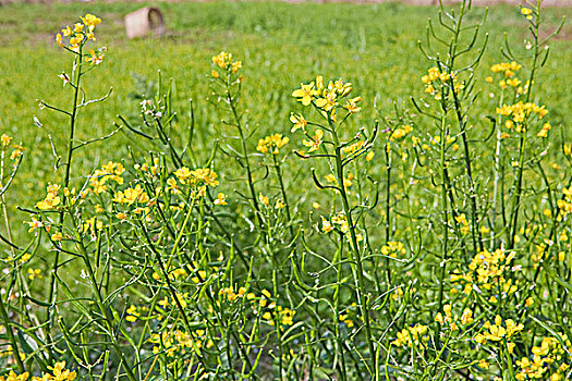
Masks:
[[[251,123],[259,124],[263,135],[288,130],[288,115],[294,107],[291,90],[316,73],[328,77],[343,76],[354,83],[365,99],[368,115],[382,115],[395,100],[405,100],[418,91],[416,78],[427,64],[417,48],[417,39],[425,33],[428,9],[384,4],[287,4],[250,2],[161,3],[168,28],[165,38],[129,40],[123,16],[145,3],[54,3],[50,5],[17,4],[0,8],[0,128],[15,136],[26,146],[23,174],[15,186],[16,204],[26,204],[28,197],[44,188],[45,180],[53,169],[48,134],[58,147],[62,136],[61,120],[53,113],[40,111],[36,99],[59,105],[66,99],[58,74],[69,71],[63,65],[62,52],[53,42],[53,35],[78,14],[92,12],[101,15],[99,44],[108,46],[106,65],[88,78],[90,96],[104,95],[113,86],[113,94],[105,107],[96,106],[80,126],[80,136],[105,135],[113,130],[115,114],[137,110],[130,95],[132,74],[157,78],[161,70],[165,78],[177,78],[174,101],[184,105],[193,98],[197,107],[199,137],[205,151],[221,126],[218,116],[207,113],[210,57],[220,50],[232,51],[245,63],[248,91],[244,103],[253,110]],[[476,14],[482,14],[484,9]],[[568,9],[548,11],[550,25]],[[507,33],[522,39],[525,28],[519,23],[514,8],[495,7],[489,11],[490,46],[498,46]],[[560,84],[541,89],[541,101],[552,105],[553,122],[563,124],[570,119],[572,87],[570,73],[572,46],[557,40],[544,72],[543,84]],[[488,49],[485,62],[501,59],[500,52]],[[486,65],[478,75],[486,76]],[[548,81],[544,81],[548,79]],[[33,85],[31,85],[33,84]],[[415,86],[416,88],[414,88]],[[419,91],[421,93],[421,91]],[[484,95],[485,96],[485,95]],[[64,105],[62,105],[64,106]],[[184,108],[187,109],[186,107]],[[491,110],[482,109],[482,113]],[[44,131],[33,123],[37,115]],[[181,123],[187,115],[181,115]],[[482,123],[483,121],[475,121]],[[125,136],[109,143],[110,150],[126,155],[127,145],[137,145]],[[95,145],[81,158],[86,169],[108,160],[109,152]]]

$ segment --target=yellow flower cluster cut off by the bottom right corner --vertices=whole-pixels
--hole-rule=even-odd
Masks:
[[[562,342],[567,347],[571,347],[572,343],[563,333],[559,333],[559,339],[544,337],[539,346],[533,346],[533,358],[523,357],[516,360],[520,371],[515,378],[519,381],[525,380],[550,380],[560,381],[565,380],[565,370],[570,368],[565,359],[572,360],[572,356],[568,355],[562,347]]]

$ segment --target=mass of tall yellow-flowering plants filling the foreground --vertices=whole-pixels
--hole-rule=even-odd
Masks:
[[[82,82],[105,64],[101,20],[64,28],[71,108],[40,106],[66,118],[66,143],[52,142],[59,179],[22,201],[24,244],[4,197],[24,148],[1,138],[0,380],[571,378],[572,146],[536,83],[562,24],[546,34],[540,5],[520,7],[530,37],[487,69],[488,11],[440,4],[418,91],[379,120],[352,83],[318,74],[261,132],[243,62],[222,51],[209,149],[200,100],[178,113],[162,75],[136,114],[77,139],[111,91],[88,99]],[[144,149],[76,172],[77,150],[118,133]]]

